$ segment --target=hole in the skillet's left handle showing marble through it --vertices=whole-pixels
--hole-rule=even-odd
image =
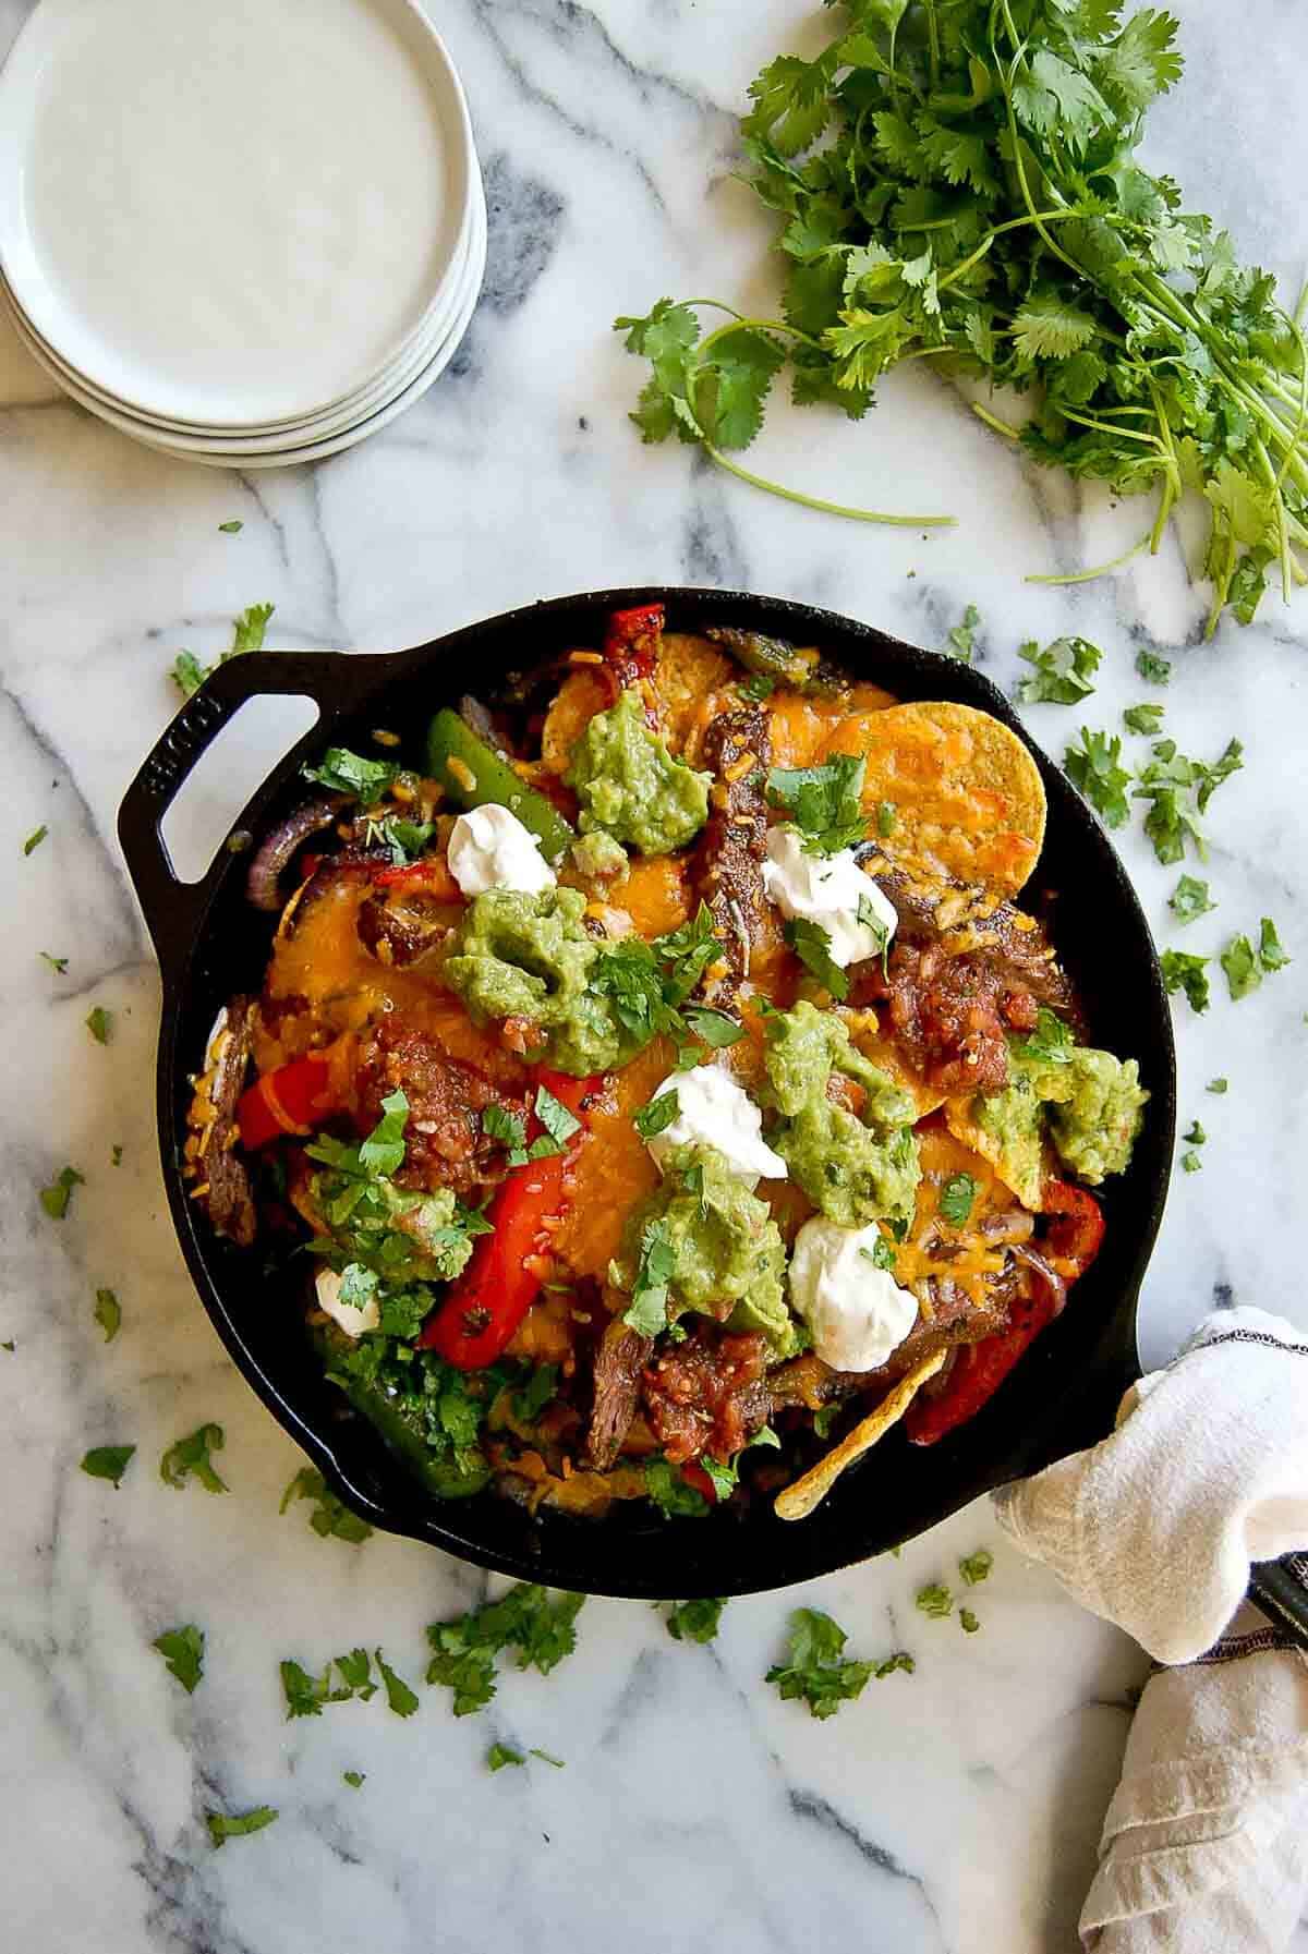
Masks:
[[[317,719],[303,692],[246,700],[233,713],[160,823],[178,881],[203,879],[244,803]]]

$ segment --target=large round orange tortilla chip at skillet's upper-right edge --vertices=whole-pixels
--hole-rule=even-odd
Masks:
[[[860,752],[862,805],[895,821],[882,838],[917,877],[948,875],[1017,895],[1044,842],[1044,782],[1017,733],[991,713],[948,701],[852,713],[831,752]]]

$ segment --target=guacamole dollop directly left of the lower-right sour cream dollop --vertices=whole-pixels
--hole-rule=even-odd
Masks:
[[[671,1251],[669,1319],[698,1311],[733,1331],[763,1331],[780,1360],[800,1348],[786,1309],[786,1245],[772,1210],[751,1194],[716,1147],[675,1147],[663,1182],[628,1217],[610,1282],[633,1290],[647,1229]]]

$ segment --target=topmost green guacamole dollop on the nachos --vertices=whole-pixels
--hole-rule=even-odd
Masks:
[[[583,834],[600,830],[641,854],[684,848],[708,821],[710,776],[673,758],[635,692],[594,715],[563,778],[577,789]]]

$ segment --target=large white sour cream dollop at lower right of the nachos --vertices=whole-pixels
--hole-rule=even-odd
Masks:
[[[870,1260],[880,1229],[813,1215],[790,1256],[790,1307],[833,1370],[876,1370],[917,1323],[917,1297]],[[864,1253],[866,1251],[866,1253]]]

